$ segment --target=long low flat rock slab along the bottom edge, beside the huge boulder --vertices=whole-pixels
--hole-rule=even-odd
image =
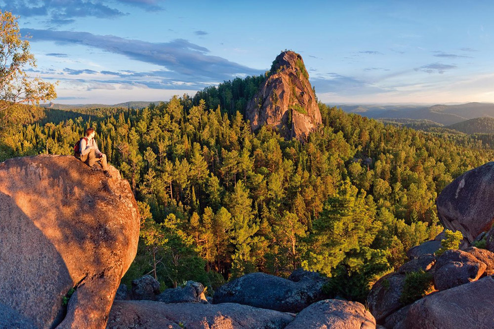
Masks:
[[[165,304],[148,300],[116,300],[108,329],[285,328],[293,315],[246,305],[181,303]]]

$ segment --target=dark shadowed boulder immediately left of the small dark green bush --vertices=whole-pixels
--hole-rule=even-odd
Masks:
[[[400,296],[404,284],[405,274],[401,273],[386,274],[374,283],[367,297],[367,304],[377,322],[403,306]]]

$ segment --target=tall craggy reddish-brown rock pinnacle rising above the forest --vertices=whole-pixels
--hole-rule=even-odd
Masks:
[[[304,138],[322,123],[302,56],[284,51],[276,57],[257,94],[247,104],[253,130],[267,124],[286,138]]]

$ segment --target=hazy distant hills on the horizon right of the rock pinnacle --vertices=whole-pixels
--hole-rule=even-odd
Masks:
[[[442,125],[453,125],[480,116],[494,117],[493,103],[466,103],[459,105],[342,105],[346,112],[358,113],[370,118],[396,118],[431,120]]]

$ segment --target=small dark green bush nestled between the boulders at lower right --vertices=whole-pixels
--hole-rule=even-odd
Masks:
[[[400,296],[400,303],[403,305],[411,304],[433,291],[434,283],[430,273],[423,270],[407,273],[403,292]]]

